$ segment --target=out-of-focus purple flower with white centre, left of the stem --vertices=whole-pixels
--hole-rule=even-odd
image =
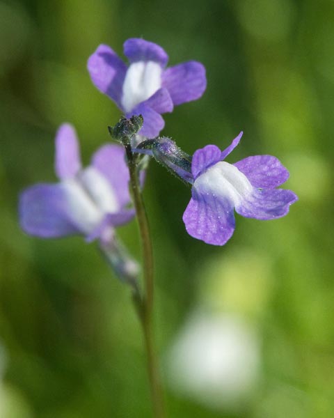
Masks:
[[[56,134],[56,184],[40,183],[24,190],[19,199],[22,229],[42,238],[83,234],[88,241],[113,241],[114,227],[129,222],[129,171],[124,149],[106,144],[81,168],[77,134],[61,125]]]

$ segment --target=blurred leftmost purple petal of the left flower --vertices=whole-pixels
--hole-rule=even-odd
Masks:
[[[41,238],[79,233],[66,210],[67,201],[61,185],[39,184],[29,187],[19,199],[22,229]]]

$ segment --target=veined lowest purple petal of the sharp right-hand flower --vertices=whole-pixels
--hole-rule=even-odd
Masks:
[[[193,192],[183,214],[186,231],[207,244],[224,245],[234,232],[234,211],[229,201]]]

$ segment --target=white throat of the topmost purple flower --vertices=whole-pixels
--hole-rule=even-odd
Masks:
[[[154,61],[138,61],[129,66],[121,100],[125,113],[161,88],[161,72],[161,66]]]

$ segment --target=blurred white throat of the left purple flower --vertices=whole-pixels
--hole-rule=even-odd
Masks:
[[[94,167],[62,181],[67,197],[67,214],[82,233],[90,234],[107,213],[120,209],[115,191]]]

